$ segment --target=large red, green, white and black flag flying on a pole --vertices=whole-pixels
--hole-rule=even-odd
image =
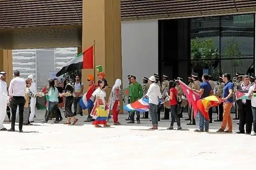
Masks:
[[[83,53],[76,56],[73,60],[67,62],[63,68],[56,73],[56,77],[67,72],[80,69],[93,69],[93,45]]]

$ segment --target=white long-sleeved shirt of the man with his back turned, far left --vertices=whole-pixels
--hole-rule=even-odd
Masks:
[[[26,89],[26,81],[20,77],[15,77],[10,82],[9,96],[25,96]]]

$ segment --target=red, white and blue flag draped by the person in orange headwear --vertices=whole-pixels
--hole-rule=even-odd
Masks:
[[[79,104],[83,110],[93,106],[94,96],[92,96],[92,94],[96,90],[96,87],[96,84],[91,85],[88,91],[80,99]]]

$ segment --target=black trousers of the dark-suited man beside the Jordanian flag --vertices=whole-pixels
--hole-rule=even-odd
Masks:
[[[239,113],[239,131],[244,133],[244,125],[245,132],[251,133],[252,123],[253,123],[253,113],[251,111],[251,106],[243,104],[243,108],[238,110]]]

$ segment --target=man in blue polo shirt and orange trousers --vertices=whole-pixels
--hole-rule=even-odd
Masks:
[[[222,75],[222,80],[224,81],[224,88],[223,88],[223,122],[221,128],[217,132],[224,132],[226,126],[228,129],[225,131],[227,133],[232,133],[232,117],[230,114],[231,108],[233,106],[234,98],[233,98],[233,89],[234,85],[230,82],[230,74],[225,73]]]

